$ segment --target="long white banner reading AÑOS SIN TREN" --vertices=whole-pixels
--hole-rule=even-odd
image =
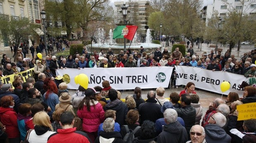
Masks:
[[[108,80],[114,89],[135,89],[168,87],[173,67],[140,67],[140,68],[83,68],[57,69],[57,75],[63,76],[68,89],[78,89],[74,78],[84,73],[88,76],[88,87],[101,86],[103,80]]]

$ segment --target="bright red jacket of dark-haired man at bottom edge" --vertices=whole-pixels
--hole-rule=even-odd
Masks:
[[[75,128],[57,129],[57,133],[49,136],[47,143],[90,143],[88,134],[76,131]]]

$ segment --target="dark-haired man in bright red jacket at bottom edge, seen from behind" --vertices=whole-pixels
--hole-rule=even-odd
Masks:
[[[73,128],[73,113],[69,111],[62,113],[60,125],[62,129],[57,129],[57,133],[50,135],[47,143],[92,143],[86,133],[76,131],[76,127]]]

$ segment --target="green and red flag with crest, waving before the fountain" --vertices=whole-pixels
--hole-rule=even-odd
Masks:
[[[132,25],[117,26],[113,32],[113,39],[126,38],[128,40],[133,40],[133,37],[135,35],[137,28],[138,26],[132,26]]]

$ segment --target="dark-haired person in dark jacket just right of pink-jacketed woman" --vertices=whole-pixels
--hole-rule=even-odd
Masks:
[[[117,91],[115,89],[109,89],[109,99],[111,102],[105,105],[104,111],[109,109],[115,110],[116,122],[119,123],[120,126],[122,126],[123,124],[125,124],[128,107],[121,100],[117,99]]]

